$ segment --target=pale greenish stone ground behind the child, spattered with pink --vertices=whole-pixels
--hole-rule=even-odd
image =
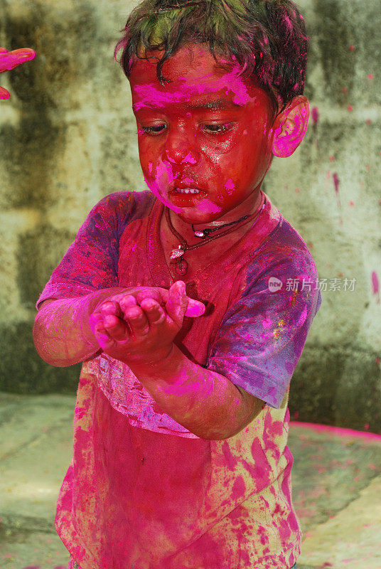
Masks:
[[[0,393],[0,567],[66,569],[55,503],[71,458],[74,395]],[[298,569],[380,569],[381,436],[291,422]]]

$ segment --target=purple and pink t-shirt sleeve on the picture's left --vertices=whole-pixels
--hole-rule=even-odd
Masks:
[[[118,286],[119,238],[132,208],[132,193],[110,193],[92,208],[41,292],[37,309],[46,299]]]

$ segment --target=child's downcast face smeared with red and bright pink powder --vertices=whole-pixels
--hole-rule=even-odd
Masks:
[[[164,86],[157,60],[151,61],[136,60],[130,76],[146,184],[188,223],[227,219],[257,196],[269,167],[269,98],[238,76],[238,66],[218,68],[202,44],[190,44],[164,63],[164,78],[171,79]],[[200,193],[178,193],[178,184]]]

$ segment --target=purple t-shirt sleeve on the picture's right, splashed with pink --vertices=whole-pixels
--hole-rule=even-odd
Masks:
[[[248,267],[241,297],[225,313],[207,361],[208,369],[276,409],[321,306],[312,257],[299,252],[296,259],[262,259],[259,276]]]

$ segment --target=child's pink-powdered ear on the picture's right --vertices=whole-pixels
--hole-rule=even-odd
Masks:
[[[272,127],[274,156],[287,158],[294,153],[306,134],[309,114],[308,99],[304,95],[297,95],[277,116]]]

